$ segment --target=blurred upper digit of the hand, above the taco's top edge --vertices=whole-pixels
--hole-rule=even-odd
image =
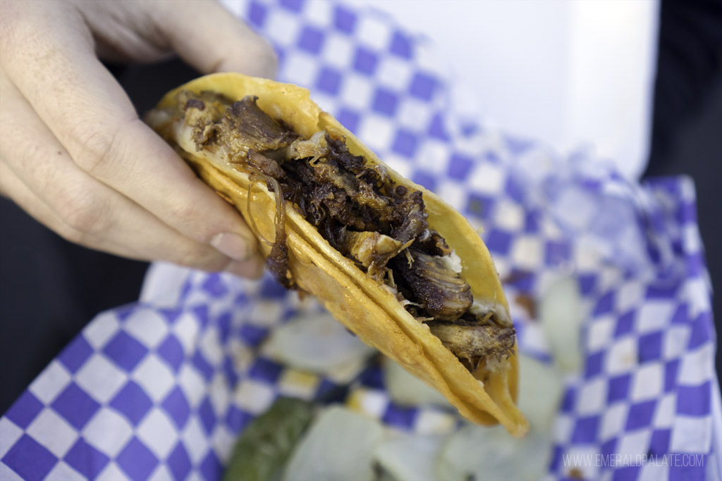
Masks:
[[[274,78],[278,59],[271,45],[217,1],[157,2],[157,28],[173,50],[205,74],[236,71]]]

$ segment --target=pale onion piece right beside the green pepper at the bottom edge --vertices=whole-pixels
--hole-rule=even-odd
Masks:
[[[372,481],[373,454],[386,431],[345,407],[321,412],[296,446],[284,481]]]

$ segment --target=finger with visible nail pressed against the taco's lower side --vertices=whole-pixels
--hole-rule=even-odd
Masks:
[[[10,30],[24,32],[26,17],[32,17],[35,29],[23,41],[12,40],[18,32],[4,35],[0,53],[6,74],[69,157],[183,236],[199,244],[214,242],[235,260],[256,255],[256,239],[240,215],[137,118],[95,58],[81,20],[69,17],[51,25],[68,15],[54,12],[57,5],[19,12],[21,21]]]

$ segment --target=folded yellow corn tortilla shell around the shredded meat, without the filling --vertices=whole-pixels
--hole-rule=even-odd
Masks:
[[[308,138],[318,131],[344,136],[349,151],[362,155],[370,165],[386,165],[333,116],[310,100],[307,89],[241,74],[212,74],[193,80],[168,92],[147,115],[147,122],[173,145],[183,159],[219,195],[238,208],[245,221],[253,221],[265,239],[274,239],[275,194],[263,180],[251,180],[220,154],[201,150],[183,123],[179,92],[217,92],[235,101],[246,95],[258,97],[257,105],[276,120],[283,120],[293,131]],[[179,114],[179,112],[181,112]],[[401,177],[393,169],[394,182],[422,192],[428,224],[444,237],[461,257],[462,273],[474,300],[494,306],[509,319],[508,303],[487,247],[461,213],[438,195]],[[248,202],[251,195],[251,202]],[[250,206],[250,211],[248,207]],[[386,289],[357,268],[309,224],[290,203],[285,203],[289,268],[297,286],[317,296],[334,317],[365,343],[441,392],[461,415],[474,423],[500,423],[514,436],[523,436],[529,425],[516,407],[518,367],[515,354],[493,366],[482,366],[472,376],[456,356],[443,346],[429,328],[406,312]],[[269,255],[264,243],[261,250]]]

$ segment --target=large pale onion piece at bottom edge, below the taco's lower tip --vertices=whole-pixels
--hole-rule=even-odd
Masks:
[[[531,431],[518,439],[502,426],[466,425],[445,442],[435,475],[444,481],[536,480],[547,471],[551,454],[547,433]]]

